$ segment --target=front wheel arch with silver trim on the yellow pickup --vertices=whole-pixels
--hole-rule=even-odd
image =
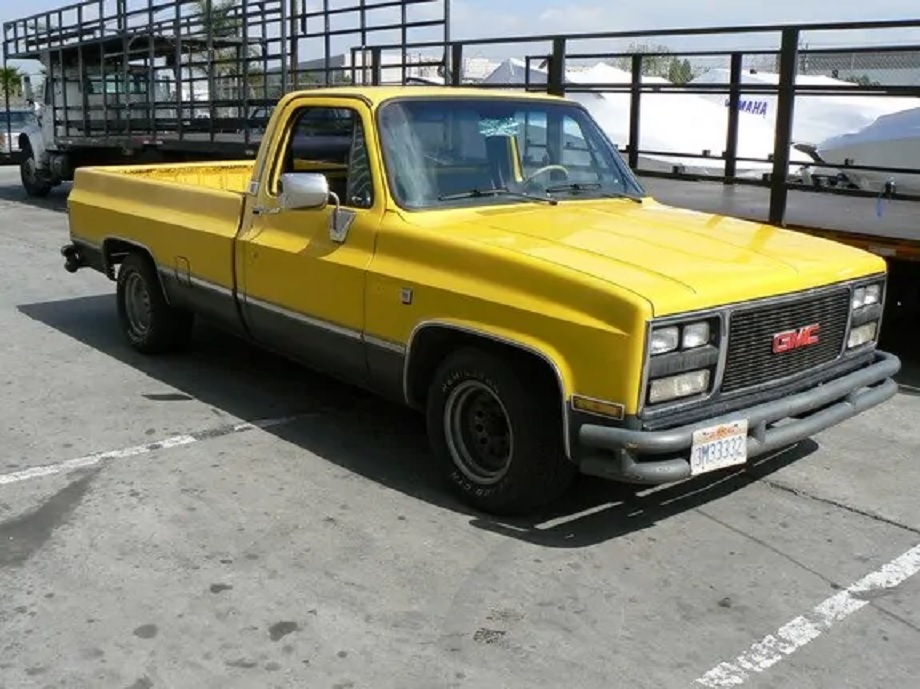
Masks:
[[[571,458],[565,370],[556,356],[514,337],[448,321],[419,323],[413,328],[406,346],[403,369],[406,403],[417,409],[424,408],[428,395],[427,382],[437,367],[452,352],[470,346],[510,356],[533,372],[536,380],[547,386],[547,392],[557,396],[566,456]]]

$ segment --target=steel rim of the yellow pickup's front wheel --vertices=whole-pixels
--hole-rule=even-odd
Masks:
[[[505,405],[488,386],[470,380],[451,391],[444,432],[454,464],[471,481],[493,485],[508,473],[514,433]]]

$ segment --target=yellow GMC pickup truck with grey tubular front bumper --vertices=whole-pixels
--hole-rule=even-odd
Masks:
[[[882,259],[656,202],[564,98],[291,93],[254,162],[79,169],[69,218],[131,346],[200,317],[411,405],[487,512],[724,471],[897,390]]]

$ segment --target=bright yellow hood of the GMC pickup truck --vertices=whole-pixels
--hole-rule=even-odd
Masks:
[[[651,199],[471,212],[478,218],[467,227],[474,228],[478,241],[616,284],[647,299],[655,315],[773,296],[885,269],[878,257],[837,242]]]

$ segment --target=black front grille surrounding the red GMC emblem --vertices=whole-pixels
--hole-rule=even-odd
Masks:
[[[744,390],[834,361],[843,348],[849,314],[850,291],[845,287],[733,312],[721,391]],[[821,326],[817,344],[774,354],[775,334],[813,323]]]

